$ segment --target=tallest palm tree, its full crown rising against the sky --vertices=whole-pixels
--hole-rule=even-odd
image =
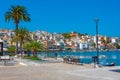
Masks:
[[[5,13],[5,21],[13,20],[16,25],[16,30],[18,30],[18,24],[20,21],[30,21],[30,15],[28,14],[24,6],[11,6],[10,9]],[[18,33],[16,33],[18,36]],[[16,41],[16,54],[18,52],[18,40]]]

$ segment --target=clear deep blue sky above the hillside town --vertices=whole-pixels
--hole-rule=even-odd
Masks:
[[[120,0],[0,0],[0,28],[15,29],[11,20],[5,22],[5,12],[11,5],[25,6],[31,22],[20,22],[19,27],[30,31],[50,33],[78,32],[120,37]]]

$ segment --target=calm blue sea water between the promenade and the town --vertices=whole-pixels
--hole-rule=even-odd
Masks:
[[[80,58],[83,63],[93,63],[93,56],[96,52],[57,52],[58,57],[74,56]],[[55,57],[54,52],[47,53],[49,57]],[[120,66],[120,51],[101,51],[99,52],[99,61],[101,64],[114,62],[116,66]]]

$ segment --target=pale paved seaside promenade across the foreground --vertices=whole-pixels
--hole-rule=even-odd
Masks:
[[[120,66],[93,68],[90,64],[66,64],[51,58],[15,61],[14,65],[0,64],[0,80],[120,80]]]

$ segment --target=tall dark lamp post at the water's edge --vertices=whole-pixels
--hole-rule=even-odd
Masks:
[[[98,18],[95,18],[95,23],[96,23],[96,50],[97,50],[97,64],[99,64],[98,22],[99,22],[99,19],[98,19]]]

